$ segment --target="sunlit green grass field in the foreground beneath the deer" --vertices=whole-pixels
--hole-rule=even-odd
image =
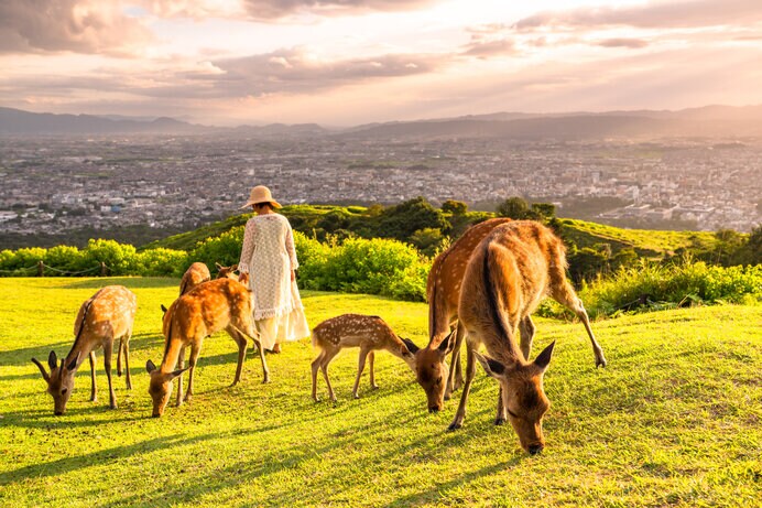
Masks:
[[[138,294],[134,390],[116,378],[108,410],[88,401],[87,365],[64,417],[30,363],[65,355],[79,304],[96,288]],[[351,399],[357,352],[331,365],[336,404],[309,398],[308,341],[268,357],[216,335],[202,352],[196,397],[151,419],[145,360],[160,360],[160,303],[172,279],[0,279],[0,506],[759,506],[762,495],[762,307],[712,306],[594,323],[609,367],[596,370],[578,323],[537,318],[535,353],[558,339],[545,389],[545,452],[523,453],[496,428],[497,383],[479,370],[464,429],[456,401],[425,411],[412,374],[379,354],[370,391]],[[344,312],[379,314],[417,343],[426,306],[304,292],[312,325]],[[319,393],[325,398],[325,385]],[[459,394],[459,392],[458,392]]]

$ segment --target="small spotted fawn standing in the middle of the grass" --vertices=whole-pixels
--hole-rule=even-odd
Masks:
[[[360,357],[357,367],[357,378],[352,396],[359,399],[357,393],[360,386],[360,376],[366,367],[366,357],[370,363],[370,386],[375,389],[375,376],[373,372],[374,353],[387,349],[398,358],[402,358],[413,369],[414,358],[407,347],[392,328],[379,316],[362,314],[342,314],[331,317],[313,328],[313,347],[319,347],[320,354],[312,363],[313,368],[313,400],[317,402],[317,369],[323,371],[323,377],[328,386],[330,400],[336,401],[334,389],[328,379],[328,364],[346,347],[359,347]]]

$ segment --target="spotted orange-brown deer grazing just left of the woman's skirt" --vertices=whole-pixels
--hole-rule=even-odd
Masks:
[[[228,278],[215,279],[194,288],[175,300],[164,314],[163,333],[166,338],[164,357],[159,368],[148,360],[145,369],[151,375],[149,393],[153,399],[153,415],[161,417],[172,393],[173,380],[185,370],[185,348],[190,346],[188,390],[183,399],[182,379],[177,388],[177,406],[193,397],[193,375],[202,350],[204,338],[221,329],[228,332],[238,344],[238,367],[232,385],[241,379],[243,358],[246,358],[247,337],[257,343],[259,334],[254,329],[251,315],[251,296],[247,288]],[[270,380],[270,371],[264,360],[264,352],[259,347],[264,382]],[[179,368],[175,369],[179,364]]]

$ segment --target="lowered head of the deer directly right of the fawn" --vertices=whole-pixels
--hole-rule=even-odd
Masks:
[[[426,392],[428,412],[437,412],[445,406],[445,389],[447,388],[447,355],[455,347],[455,331],[450,332],[438,346],[432,343],[420,348],[409,338],[402,339],[414,356],[411,368],[415,372],[418,385]]]

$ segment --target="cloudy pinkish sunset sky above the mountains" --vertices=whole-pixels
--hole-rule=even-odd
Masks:
[[[762,1],[0,0],[0,106],[204,125],[762,104]]]

